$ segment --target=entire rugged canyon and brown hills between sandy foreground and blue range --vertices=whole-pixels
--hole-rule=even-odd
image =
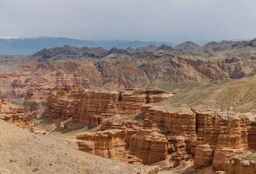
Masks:
[[[142,174],[254,173],[256,62],[241,44],[0,58],[0,119]]]

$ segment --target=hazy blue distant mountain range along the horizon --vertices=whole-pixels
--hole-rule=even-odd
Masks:
[[[233,39],[233,41],[242,41],[248,39]],[[221,41],[217,41],[221,42]],[[185,42],[186,43],[186,42]],[[196,42],[203,46],[205,41]],[[143,41],[128,41],[128,40],[78,40],[70,39],[65,37],[0,37],[0,55],[30,55],[34,54],[43,49],[50,49],[55,47],[62,47],[69,45],[72,47],[102,47],[107,50],[112,48],[138,48],[146,47],[149,45],[155,45],[157,47],[165,44],[166,46],[175,47],[179,43],[168,43],[168,42],[143,42]],[[198,46],[199,46],[198,45]],[[180,47],[176,47],[181,48]],[[198,47],[199,48],[199,47]],[[186,48],[188,49],[188,48]]]

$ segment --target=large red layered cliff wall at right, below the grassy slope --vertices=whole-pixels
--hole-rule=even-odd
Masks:
[[[195,168],[212,164],[216,171],[225,170],[233,156],[255,150],[256,115],[252,113],[168,108],[151,104],[143,105],[142,113],[162,133],[167,133],[168,145],[173,145],[176,152],[172,157],[173,166],[179,165],[183,158],[182,151],[178,153],[179,137],[184,139],[186,152],[196,155]]]

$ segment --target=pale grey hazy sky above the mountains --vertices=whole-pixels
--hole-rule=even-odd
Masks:
[[[0,0],[0,36],[179,43],[256,37],[256,0]]]

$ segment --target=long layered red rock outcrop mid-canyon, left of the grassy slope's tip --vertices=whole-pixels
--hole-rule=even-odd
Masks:
[[[48,111],[52,118],[64,120],[72,117],[74,123],[98,126],[104,118],[137,114],[143,104],[159,102],[171,96],[161,89],[126,88],[118,92],[65,85],[55,88],[49,96]]]

